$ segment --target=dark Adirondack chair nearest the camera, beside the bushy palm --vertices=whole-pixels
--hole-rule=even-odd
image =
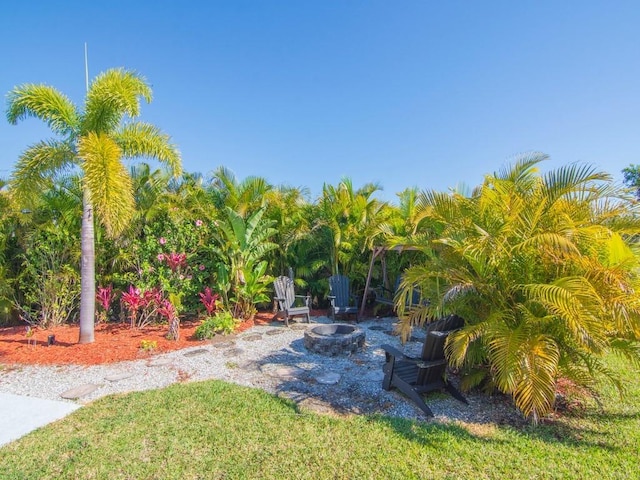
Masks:
[[[384,372],[382,388],[384,390],[397,388],[430,417],[433,417],[433,412],[422,398],[424,393],[444,388],[454,398],[468,404],[467,399],[444,378],[447,369],[444,345],[449,334],[462,326],[462,319],[451,315],[434,322],[434,325],[438,325],[438,322],[441,327],[449,327],[449,329],[444,331],[433,329],[427,332],[421,358],[409,357],[390,345],[382,345],[386,358],[382,367]]]

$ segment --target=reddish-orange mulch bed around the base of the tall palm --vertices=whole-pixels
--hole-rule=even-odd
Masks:
[[[260,312],[253,320],[242,322],[236,332],[271,321],[272,313]],[[175,341],[166,338],[168,325],[132,329],[126,323],[102,323],[95,327],[95,341],[83,345],[78,343],[78,325],[34,329],[29,337],[24,326],[0,328],[0,363],[97,365],[137,360],[206,343],[208,340],[195,338],[198,325],[200,321],[181,321],[180,339]],[[48,345],[50,335],[55,337],[52,345]],[[145,349],[145,344],[154,348]]]

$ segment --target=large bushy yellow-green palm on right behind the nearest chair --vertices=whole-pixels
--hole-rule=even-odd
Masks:
[[[468,386],[489,380],[536,421],[563,377],[592,388],[601,357],[640,363],[640,263],[634,207],[607,174],[570,165],[544,176],[545,157],[487,176],[470,197],[425,192],[431,258],[408,270],[398,309],[410,325],[457,313],[447,353]],[[412,285],[430,302],[404,308]]]

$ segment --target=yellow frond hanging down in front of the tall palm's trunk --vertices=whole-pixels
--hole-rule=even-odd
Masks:
[[[107,233],[116,236],[135,213],[131,177],[120,160],[122,151],[107,135],[89,133],[80,138],[78,154],[83,159],[84,181],[91,203]]]

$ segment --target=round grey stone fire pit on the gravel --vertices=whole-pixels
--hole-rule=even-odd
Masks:
[[[364,330],[342,323],[320,325],[304,332],[304,346],[329,356],[355,353],[364,346]]]

